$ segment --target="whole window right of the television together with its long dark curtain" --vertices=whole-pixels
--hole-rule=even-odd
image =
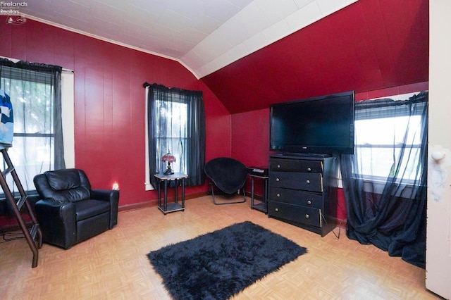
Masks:
[[[355,151],[339,157],[346,234],[424,265],[428,92],[401,99],[355,105]]]

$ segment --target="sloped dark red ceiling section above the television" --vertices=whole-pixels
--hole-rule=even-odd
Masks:
[[[428,81],[428,1],[360,0],[202,80],[230,113]]]

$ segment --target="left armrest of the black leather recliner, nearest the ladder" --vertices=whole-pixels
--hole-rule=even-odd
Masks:
[[[76,213],[73,203],[41,199],[35,204],[35,213],[42,228],[44,242],[70,249],[77,238]]]

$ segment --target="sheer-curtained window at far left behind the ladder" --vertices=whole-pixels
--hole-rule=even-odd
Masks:
[[[0,89],[13,106],[13,146],[8,154],[23,188],[33,194],[35,175],[64,167],[61,67],[1,58]],[[12,177],[6,179],[12,192],[18,192]]]

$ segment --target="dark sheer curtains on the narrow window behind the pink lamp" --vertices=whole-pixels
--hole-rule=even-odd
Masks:
[[[150,85],[147,93],[149,139],[149,171],[152,185],[154,174],[166,169],[161,157],[168,151],[175,156],[173,169],[188,175],[187,186],[204,184],[205,112],[202,92]],[[180,105],[181,104],[181,105]]]

